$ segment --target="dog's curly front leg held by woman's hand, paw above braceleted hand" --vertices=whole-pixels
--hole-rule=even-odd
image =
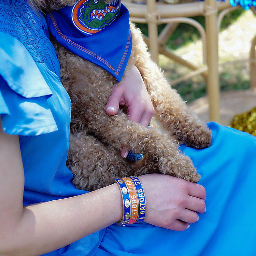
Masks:
[[[81,109],[81,107],[79,107]],[[200,175],[196,172],[190,158],[178,149],[178,143],[161,134],[155,129],[147,129],[132,122],[128,117],[118,112],[115,116],[108,116],[104,110],[94,113],[97,119],[87,116],[88,129],[110,147],[132,149],[136,153],[147,153],[152,162],[158,163],[160,173],[197,182]],[[151,172],[147,167],[141,173]]]

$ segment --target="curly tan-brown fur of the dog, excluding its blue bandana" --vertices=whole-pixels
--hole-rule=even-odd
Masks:
[[[53,10],[75,0],[41,0],[40,10]],[[77,188],[95,190],[110,185],[117,177],[159,172],[198,182],[190,158],[179,150],[179,141],[187,146],[211,145],[211,131],[190,111],[172,89],[158,66],[151,60],[141,31],[130,23],[132,53],[124,77],[134,64],[140,71],[155,108],[155,115],[167,134],[147,129],[128,119],[123,110],[114,116],[104,107],[116,79],[95,64],[69,52],[53,40],[61,65],[61,82],[71,101],[70,147],[67,166]],[[122,148],[143,153],[144,158],[130,162],[120,156]]]

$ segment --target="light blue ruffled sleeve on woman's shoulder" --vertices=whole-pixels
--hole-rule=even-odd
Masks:
[[[0,32],[0,114],[6,133],[40,135],[58,130],[47,85],[27,49]]]

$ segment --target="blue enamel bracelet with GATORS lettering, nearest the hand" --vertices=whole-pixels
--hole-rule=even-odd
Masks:
[[[146,199],[144,190],[137,176],[131,176],[130,179],[133,181],[138,195],[139,214],[136,223],[143,222],[146,214]]]

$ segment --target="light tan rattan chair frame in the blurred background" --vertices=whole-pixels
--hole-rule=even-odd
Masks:
[[[161,53],[192,70],[185,77],[172,81],[172,85],[196,74],[201,74],[205,78],[208,89],[210,120],[220,122],[218,33],[223,17],[228,12],[237,9],[237,7],[231,7],[228,0],[225,2],[205,0],[178,4],[166,4],[162,0],[158,2],[147,0],[147,4],[138,4],[130,0],[123,0],[123,3],[129,9],[132,22],[146,23],[148,25],[148,38],[145,38],[145,41],[149,46],[152,59],[156,63],[158,62],[158,54]],[[200,23],[191,18],[194,16],[205,17],[205,29]],[[179,23],[190,24],[200,32],[203,44],[203,67],[196,67],[193,63],[180,58],[165,47],[167,40]],[[159,24],[167,25],[158,35],[157,26]],[[254,40],[254,48],[252,47],[251,51],[253,58],[255,58],[255,44],[256,38]],[[251,65],[255,65],[255,63],[252,62]],[[255,66],[252,66],[252,69],[254,70],[254,83],[256,85]]]

